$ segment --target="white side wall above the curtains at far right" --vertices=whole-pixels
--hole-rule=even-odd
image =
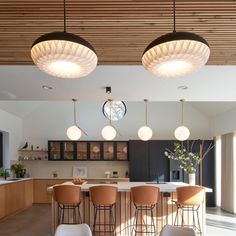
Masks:
[[[218,136],[236,131],[236,108],[212,119],[211,135]]]

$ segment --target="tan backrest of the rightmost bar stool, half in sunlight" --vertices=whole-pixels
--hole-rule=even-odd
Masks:
[[[176,188],[177,202],[181,205],[201,205],[205,188],[201,186],[184,186]]]

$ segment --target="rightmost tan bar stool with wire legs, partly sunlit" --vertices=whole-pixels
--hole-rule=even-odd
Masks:
[[[177,200],[174,201],[177,206],[176,217],[174,225],[192,227],[196,233],[202,235],[202,229],[199,220],[199,208],[203,203],[205,196],[205,188],[201,186],[184,186],[176,188]],[[185,212],[189,217],[189,212],[192,213],[193,224],[186,224],[184,222]],[[178,215],[181,216],[181,224],[178,224]],[[195,222],[195,214],[197,216],[197,223]]]

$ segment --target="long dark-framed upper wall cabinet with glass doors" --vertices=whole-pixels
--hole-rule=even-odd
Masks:
[[[50,161],[127,161],[128,141],[48,141]]]

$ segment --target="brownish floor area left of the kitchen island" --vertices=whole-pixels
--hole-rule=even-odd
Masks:
[[[51,205],[34,204],[0,221],[0,236],[51,236]]]

